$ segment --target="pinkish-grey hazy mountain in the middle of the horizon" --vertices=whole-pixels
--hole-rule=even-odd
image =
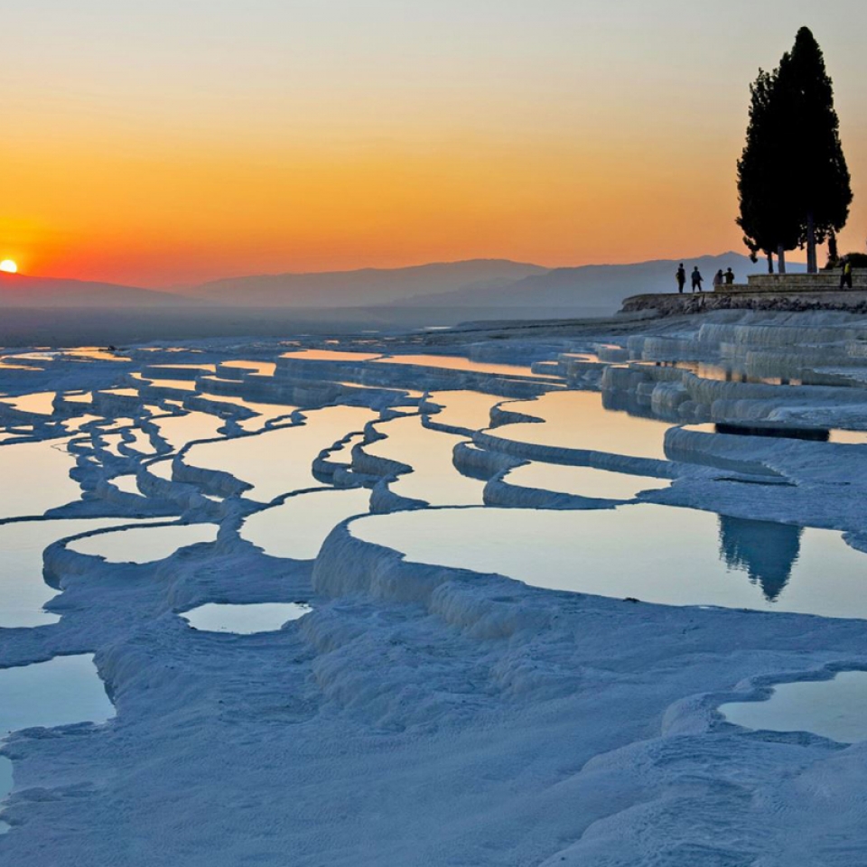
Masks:
[[[231,277],[184,290],[209,303],[253,307],[364,307],[434,293],[491,292],[546,268],[505,259],[472,259],[409,268]]]

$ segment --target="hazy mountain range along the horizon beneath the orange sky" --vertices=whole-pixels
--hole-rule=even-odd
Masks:
[[[554,318],[609,315],[629,295],[675,291],[678,261],[635,265],[544,268],[504,259],[473,259],[408,268],[233,277],[172,292],[134,286],[88,283],[23,275],[0,275],[0,305],[25,308],[222,308],[279,309],[288,312],[387,309],[402,322],[438,323],[480,318]],[[731,267],[739,281],[762,270],[746,256],[724,253],[685,259],[698,266],[704,288],[713,274]],[[793,271],[803,270],[794,266]],[[687,287],[688,291],[688,287]]]

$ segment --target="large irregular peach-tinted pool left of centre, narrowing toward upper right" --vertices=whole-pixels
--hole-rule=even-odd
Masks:
[[[359,406],[328,406],[304,415],[304,424],[194,445],[184,462],[228,472],[253,486],[245,497],[270,502],[294,490],[320,487],[312,475],[313,460],[347,433],[362,430],[378,417]]]

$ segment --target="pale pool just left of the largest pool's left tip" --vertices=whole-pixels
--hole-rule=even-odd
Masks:
[[[247,517],[241,538],[273,557],[312,560],[333,527],[352,515],[364,515],[369,503],[370,491],[365,488],[299,494]]]

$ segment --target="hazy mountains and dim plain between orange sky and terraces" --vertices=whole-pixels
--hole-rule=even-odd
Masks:
[[[629,295],[675,291],[677,265],[660,260],[548,269],[476,259],[390,270],[235,277],[172,292],[0,275],[0,342],[117,345],[610,316]],[[708,290],[718,268],[732,267],[741,281],[763,269],[737,253],[686,259],[684,265],[687,271],[700,267]]]

